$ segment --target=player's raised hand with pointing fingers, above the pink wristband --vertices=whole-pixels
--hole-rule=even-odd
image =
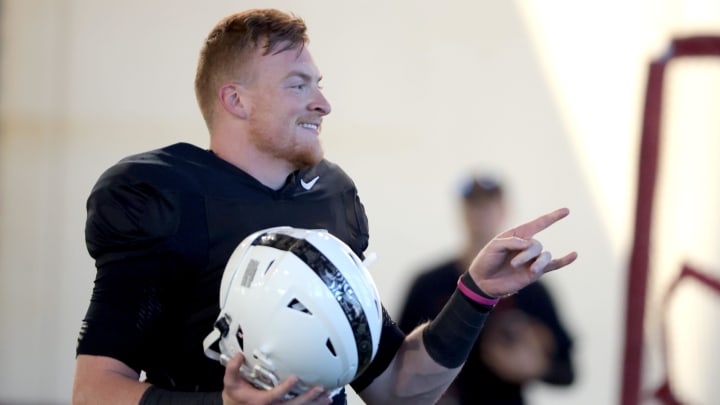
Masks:
[[[549,271],[574,262],[576,252],[553,259],[534,239],[537,233],[568,214],[570,210],[560,208],[493,238],[470,264],[468,271],[475,284],[493,297],[502,297],[517,292]]]

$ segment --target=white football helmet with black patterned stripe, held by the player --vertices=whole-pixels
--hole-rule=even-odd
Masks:
[[[375,357],[381,328],[377,288],[352,249],[326,230],[277,227],[230,256],[204,347],[223,364],[242,352],[241,372],[258,388],[297,376],[292,397],[353,381]]]

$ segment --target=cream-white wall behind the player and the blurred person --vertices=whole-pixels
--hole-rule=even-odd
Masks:
[[[673,34],[720,27],[712,0],[573,2],[5,0],[0,102],[0,403],[66,403],[94,277],[84,201],[121,157],[206,146],[192,91],[226,14],[305,18],[333,113],[327,157],[354,177],[372,271],[397,314],[419,267],[453,252],[453,187],[491,168],[510,223],[560,206],[547,277],[579,379],[534,404],[609,404],[620,387],[625,266],[646,64]]]

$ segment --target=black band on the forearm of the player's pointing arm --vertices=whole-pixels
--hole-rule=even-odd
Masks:
[[[455,290],[438,316],[425,326],[425,350],[441,366],[460,367],[470,354],[491,309]]]

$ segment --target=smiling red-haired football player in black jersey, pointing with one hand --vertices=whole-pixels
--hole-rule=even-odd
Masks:
[[[74,403],[346,402],[344,392],[331,398],[321,387],[285,401],[296,377],[260,390],[240,373],[242,355],[223,368],[203,352],[224,266],[246,236],[274,226],[323,228],[360,257],[368,246],[354,183],[323,158],[318,136],[331,107],[307,42],[305,23],[277,10],[223,19],[207,37],[195,80],[209,149],[180,143],[140,153],[97,181],[86,223],[97,276],[78,339]],[[553,259],[534,239],[567,214],[559,209],[498,235],[445,311],[409,335],[383,311],[378,354],[352,387],[368,403],[433,403],[496,297],[575,260]]]

